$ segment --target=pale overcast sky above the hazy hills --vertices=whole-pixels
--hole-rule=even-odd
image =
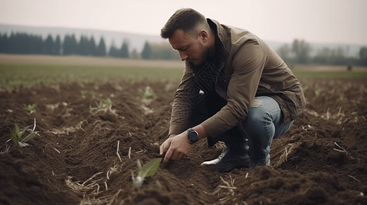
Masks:
[[[367,44],[367,0],[0,0],[0,23],[158,36],[180,8],[268,41]]]

